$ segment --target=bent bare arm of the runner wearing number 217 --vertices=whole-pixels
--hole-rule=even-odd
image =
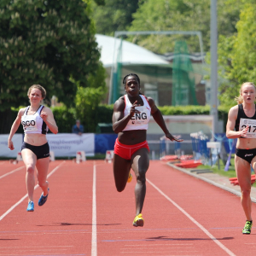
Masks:
[[[226,137],[228,138],[238,138],[238,137],[247,137],[247,131],[249,126],[244,128],[242,131],[234,131],[236,125],[236,118],[238,113],[238,106],[230,108],[228,121],[226,125]]]

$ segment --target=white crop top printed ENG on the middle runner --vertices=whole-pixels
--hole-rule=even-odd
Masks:
[[[148,130],[148,121],[150,119],[151,108],[148,104],[148,100],[145,96],[140,95],[143,99],[143,106],[135,107],[141,113],[135,113],[131,119],[129,120],[128,124],[125,126],[123,131],[131,131],[131,130]],[[125,94],[125,116],[130,113],[131,109],[131,102],[129,97]]]

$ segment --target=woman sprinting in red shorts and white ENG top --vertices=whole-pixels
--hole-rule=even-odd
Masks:
[[[173,137],[168,131],[160,110],[155,106],[152,98],[140,93],[140,79],[137,74],[126,75],[125,96],[119,97],[113,105],[113,131],[118,133],[114,145],[113,176],[116,189],[125,189],[130,170],[135,173],[137,184],[135,187],[136,214],[133,226],[143,226],[143,202],[146,195],[146,172],[149,166],[149,148],[146,141],[148,120],[150,113],[166,137],[171,141],[183,140]]]

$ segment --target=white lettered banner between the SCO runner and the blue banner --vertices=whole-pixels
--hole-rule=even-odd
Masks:
[[[77,151],[84,151],[86,156],[93,156],[94,153],[94,133],[74,133],[47,134],[49,151],[53,151],[55,157],[76,156]]]

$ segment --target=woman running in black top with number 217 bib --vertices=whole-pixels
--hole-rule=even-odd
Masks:
[[[250,194],[251,166],[253,166],[254,172],[256,170],[255,96],[256,88],[253,83],[241,84],[240,96],[236,98],[238,105],[230,108],[226,126],[226,136],[228,138],[237,138],[235,155],[236,176],[241,188],[241,206],[247,218],[242,230],[243,234],[250,234],[253,224]]]

